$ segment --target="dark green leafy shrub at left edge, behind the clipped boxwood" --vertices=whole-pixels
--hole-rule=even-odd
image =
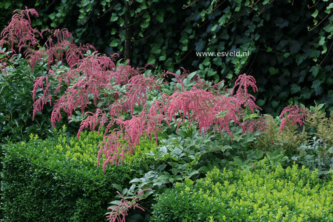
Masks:
[[[8,63],[10,66],[7,67],[7,74],[0,72],[0,142],[6,143],[8,139],[26,141],[31,133],[46,138],[52,133],[52,109],[48,104],[45,105],[43,111],[37,111],[33,121],[32,90],[36,78],[48,72],[47,63],[41,63],[31,69],[27,60],[21,58],[21,54],[14,56]],[[61,68],[66,69],[65,66]],[[51,84],[50,90],[54,89],[54,85]],[[38,89],[36,97],[42,95],[43,90]],[[57,126],[64,123],[68,125],[68,132],[77,132],[78,123],[68,123],[67,118],[63,118]]]

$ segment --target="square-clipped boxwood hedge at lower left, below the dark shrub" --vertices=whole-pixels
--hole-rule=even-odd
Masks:
[[[128,187],[133,173],[126,164],[106,167],[105,175],[96,167],[102,138],[84,132],[78,140],[64,129],[45,140],[9,143],[2,172],[4,221],[106,221],[117,194],[112,184]]]

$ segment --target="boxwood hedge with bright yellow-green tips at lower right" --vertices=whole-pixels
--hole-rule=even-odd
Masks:
[[[281,165],[255,172],[214,168],[195,185],[157,197],[151,221],[333,221],[333,176]]]

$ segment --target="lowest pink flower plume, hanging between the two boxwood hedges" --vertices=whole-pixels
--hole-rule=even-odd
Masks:
[[[120,204],[117,206],[111,206],[108,208],[108,210],[112,210],[110,215],[106,216],[107,220],[109,222],[125,222],[126,216],[128,216],[128,210],[133,208],[139,208],[143,211],[145,211],[142,207],[139,206],[138,201],[142,199],[142,196],[144,195],[146,190],[152,190],[150,188],[144,189],[141,191],[138,191],[136,194],[134,194],[133,197],[124,197],[119,191],[117,193],[119,194],[121,200]],[[132,199],[129,201],[128,199]]]

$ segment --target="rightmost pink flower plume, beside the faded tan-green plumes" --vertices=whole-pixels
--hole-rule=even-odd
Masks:
[[[281,132],[281,130],[284,130],[285,124],[290,121],[291,125],[296,125],[297,123],[302,126],[303,122],[306,119],[306,115],[309,113],[308,109],[302,109],[299,108],[298,105],[293,105],[293,106],[287,106],[285,107],[281,114],[280,114],[280,119],[282,117],[284,117],[281,120],[281,125],[280,125],[280,130],[279,130],[279,134]]]

